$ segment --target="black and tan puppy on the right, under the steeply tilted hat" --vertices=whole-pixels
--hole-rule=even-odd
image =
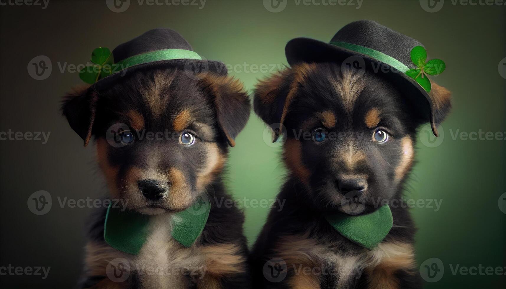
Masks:
[[[439,123],[450,93],[433,82],[430,97]],[[284,126],[289,171],[277,196],[286,200],[283,210],[271,210],[252,250],[256,287],[418,288],[415,229],[401,198],[416,129],[427,121],[417,106],[379,73],[322,62],[261,81],[254,108],[268,125]],[[374,250],[324,217],[367,214],[392,200],[399,202],[391,208],[393,227]]]

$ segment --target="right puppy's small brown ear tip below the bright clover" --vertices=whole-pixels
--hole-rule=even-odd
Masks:
[[[432,82],[432,89],[429,93],[429,97],[432,100],[432,119],[431,127],[432,132],[435,136],[438,136],[438,130],[436,125],[441,123],[451,109],[451,93],[444,87],[439,86],[436,82]]]

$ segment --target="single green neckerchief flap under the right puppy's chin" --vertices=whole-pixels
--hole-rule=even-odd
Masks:
[[[327,222],[341,235],[369,250],[373,250],[385,239],[392,229],[392,211],[388,205],[359,216],[332,214],[326,216]]]

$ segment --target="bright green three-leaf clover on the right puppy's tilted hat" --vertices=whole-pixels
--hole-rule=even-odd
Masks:
[[[418,84],[425,89],[426,92],[431,92],[431,81],[429,75],[437,75],[442,73],[446,64],[441,59],[431,59],[427,62],[427,51],[421,46],[416,46],[411,50],[411,61],[418,67],[409,69],[406,74],[413,78]]]

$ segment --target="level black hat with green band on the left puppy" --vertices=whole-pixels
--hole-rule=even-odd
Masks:
[[[227,74],[224,63],[202,59],[183,36],[168,28],[152,29],[120,44],[112,56],[112,73],[103,78],[99,76],[94,89],[105,89],[141,67],[175,67],[187,70],[189,75],[207,71]]]

